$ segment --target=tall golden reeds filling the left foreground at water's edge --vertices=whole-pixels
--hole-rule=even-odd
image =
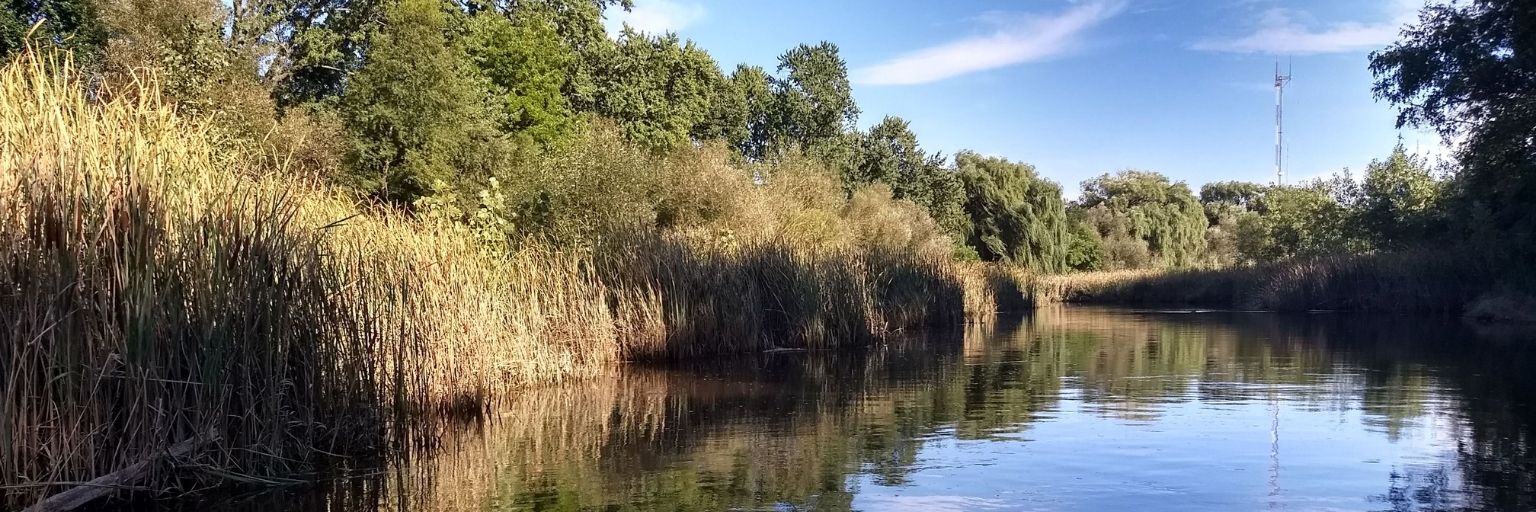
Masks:
[[[617,360],[579,258],[487,254],[223,152],[154,77],[104,103],[80,80],[37,55],[0,71],[5,507],[195,438],[178,478],[289,478]]]

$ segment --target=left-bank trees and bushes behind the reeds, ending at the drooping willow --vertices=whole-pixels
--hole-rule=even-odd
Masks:
[[[636,224],[739,238],[756,226],[739,215],[756,208],[743,188],[799,188],[766,201],[796,209],[793,234],[773,237],[836,248],[895,231],[929,238],[900,249],[1064,269],[1057,185],[1003,158],[925,151],[897,117],[859,129],[836,45],[725,69],[674,34],[607,34],[605,11],[625,8],[51,0],[9,6],[0,49],[37,25],[34,43],[72,51],[100,83],[157,69],[160,94],[214,118],[227,143],[487,240],[590,244]],[[745,186],[679,177],[700,161]],[[883,228],[828,218],[848,215]]]

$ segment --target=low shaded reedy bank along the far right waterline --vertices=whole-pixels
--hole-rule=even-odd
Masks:
[[[1519,294],[1505,291],[1501,280],[1508,268],[1471,249],[1413,251],[1229,269],[1048,275],[1031,297],[1037,303],[1464,314],[1519,304]]]

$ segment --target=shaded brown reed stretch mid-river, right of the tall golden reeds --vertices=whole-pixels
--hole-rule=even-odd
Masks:
[[[965,321],[958,271],[940,260],[665,235],[608,240],[598,254],[630,360],[862,346]]]

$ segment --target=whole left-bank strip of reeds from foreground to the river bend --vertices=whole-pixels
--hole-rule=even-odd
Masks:
[[[106,100],[80,80],[0,71],[3,509],[124,467],[151,494],[303,480],[524,386],[865,346],[1023,297],[1014,272],[771,240],[488,248],[232,151],[152,77]]]

